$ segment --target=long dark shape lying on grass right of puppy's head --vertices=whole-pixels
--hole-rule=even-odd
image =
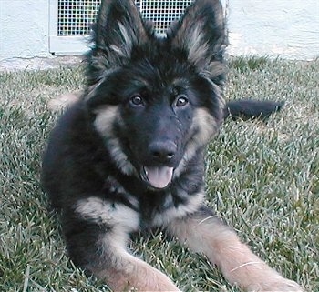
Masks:
[[[224,118],[231,116],[232,119],[242,118],[243,120],[260,118],[267,119],[274,112],[282,109],[284,102],[274,102],[268,100],[240,99],[226,104]]]

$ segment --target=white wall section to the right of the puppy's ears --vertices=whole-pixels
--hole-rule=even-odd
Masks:
[[[231,55],[319,56],[319,0],[229,0]]]

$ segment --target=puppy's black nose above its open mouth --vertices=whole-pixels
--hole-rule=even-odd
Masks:
[[[158,162],[168,162],[177,151],[177,145],[172,141],[155,141],[149,144],[149,154]]]

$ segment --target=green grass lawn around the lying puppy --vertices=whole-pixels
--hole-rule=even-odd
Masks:
[[[236,58],[230,67],[229,98],[286,104],[266,124],[225,123],[208,149],[208,204],[272,267],[317,292],[319,61]],[[41,153],[58,116],[46,103],[81,81],[79,68],[0,74],[0,291],[108,291],[67,259],[39,186]],[[162,237],[140,237],[132,252],[183,291],[238,291],[205,257]]]

